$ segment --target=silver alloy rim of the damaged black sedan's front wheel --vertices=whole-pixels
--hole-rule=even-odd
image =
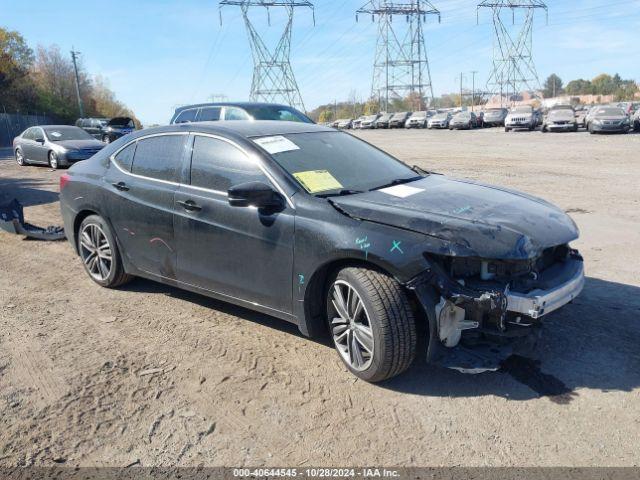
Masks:
[[[338,353],[354,370],[369,368],[374,355],[374,337],[367,309],[355,288],[337,280],[329,292],[334,313],[331,334]]]

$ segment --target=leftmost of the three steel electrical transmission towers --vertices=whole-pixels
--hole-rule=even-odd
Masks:
[[[305,111],[300,89],[298,88],[290,63],[291,29],[295,9],[306,7],[310,8],[313,13],[313,4],[308,1],[299,0],[221,0],[219,6],[220,9],[224,6],[236,6],[240,7],[242,11],[244,24],[249,35],[249,43],[251,44],[251,54],[253,56],[251,101],[286,103]],[[273,50],[267,47],[249,17],[249,12],[255,7],[261,7],[267,10],[269,25],[271,25],[270,8],[283,8],[288,15],[284,31]],[[222,16],[220,17],[220,21],[222,22]]]

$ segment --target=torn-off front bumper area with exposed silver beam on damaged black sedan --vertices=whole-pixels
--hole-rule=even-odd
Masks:
[[[582,257],[571,251],[540,272],[526,293],[501,291],[495,283],[464,285],[437,264],[406,287],[415,292],[428,320],[427,361],[482,373],[498,370],[513,354],[527,355],[540,336],[541,317],[573,301],[584,281]]]

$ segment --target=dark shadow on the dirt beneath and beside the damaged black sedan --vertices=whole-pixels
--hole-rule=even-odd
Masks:
[[[167,285],[137,279],[123,288],[171,295],[302,337],[284,320]],[[544,325],[533,358],[511,357],[498,372],[466,375],[427,365],[421,354],[409,371],[379,386],[437,397],[547,397],[558,404],[570,403],[582,388],[629,392],[640,387],[640,287],[588,278],[582,295]],[[332,348],[328,338],[308,341]]]

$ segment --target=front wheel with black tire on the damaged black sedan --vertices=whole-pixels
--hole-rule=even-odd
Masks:
[[[346,312],[339,313],[336,305]],[[416,355],[416,323],[406,293],[393,278],[367,268],[342,269],[329,282],[326,308],[334,347],[355,376],[375,383],[409,368]]]

